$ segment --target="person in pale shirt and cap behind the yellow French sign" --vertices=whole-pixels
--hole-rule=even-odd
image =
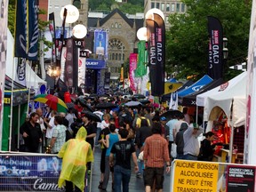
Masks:
[[[199,141],[198,136],[203,132],[202,128],[199,128],[198,124],[189,124],[188,129],[183,133],[184,140],[184,159],[197,160],[199,155]]]

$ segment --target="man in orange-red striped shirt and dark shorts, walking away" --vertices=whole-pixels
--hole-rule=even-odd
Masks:
[[[145,140],[143,159],[145,164],[144,185],[145,191],[150,192],[156,183],[156,191],[163,191],[164,165],[166,172],[171,171],[168,142],[162,136],[162,127],[159,123],[152,126],[152,136]]]

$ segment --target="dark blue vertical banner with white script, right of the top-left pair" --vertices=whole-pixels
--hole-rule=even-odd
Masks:
[[[38,7],[36,0],[28,1],[28,60],[37,60],[38,56]]]

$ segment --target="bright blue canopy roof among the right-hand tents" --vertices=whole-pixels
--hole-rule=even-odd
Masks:
[[[184,97],[185,95],[191,94],[193,92],[198,92],[202,87],[204,87],[206,84],[210,84],[211,82],[212,78],[210,76],[204,75],[195,84],[190,85],[187,89],[180,90],[180,92],[178,92],[178,96]]]

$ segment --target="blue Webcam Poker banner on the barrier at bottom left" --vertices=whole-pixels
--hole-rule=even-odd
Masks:
[[[1,191],[64,191],[58,188],[61,159],[56,156],[1,155]]]

